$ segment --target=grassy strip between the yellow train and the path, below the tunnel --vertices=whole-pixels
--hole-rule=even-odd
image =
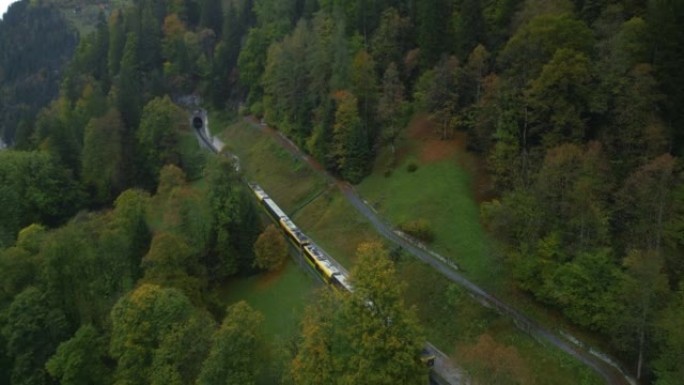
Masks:
[[[221,135],[241,159],[249,180],[260,184],[316,243],[350,269],[359,243],[377,240],[370,223],[321,175],[250,123]]]

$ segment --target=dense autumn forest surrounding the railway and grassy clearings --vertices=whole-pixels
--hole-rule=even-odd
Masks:
[[[50,7],[24,0],[0,21],[14,145],[0,152],[0,383],[255,381],[260,315],[211,293],[266,267],[260,223],[230,165],[193,142],[172,102],[191,93],[263,117],[352,183],[416,113],[443,140],[466,132],[518,288],[644,383],[682,383],[683,2],[136,0],[78,44]],[[383,253],[360,248],[380,277],[353,273],[361,294],[309,309],[283,382],[425,375],[414,316],[383,286],[393,268],[369,257]],[[359,346],[377,293],[410,343],[373,377],[359,359],[395,348]]]

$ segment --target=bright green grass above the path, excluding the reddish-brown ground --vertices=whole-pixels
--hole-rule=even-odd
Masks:
[[[418,164],[414,172],[407,171],[409,162],[415,161],[404,160],[389,177],[376,171],[358,191],[395,225],[427,219],[435,233],[432,249],[450,257],[476,282],[495,285],[501,264],[480,224],[470,175],[453,158]]]

